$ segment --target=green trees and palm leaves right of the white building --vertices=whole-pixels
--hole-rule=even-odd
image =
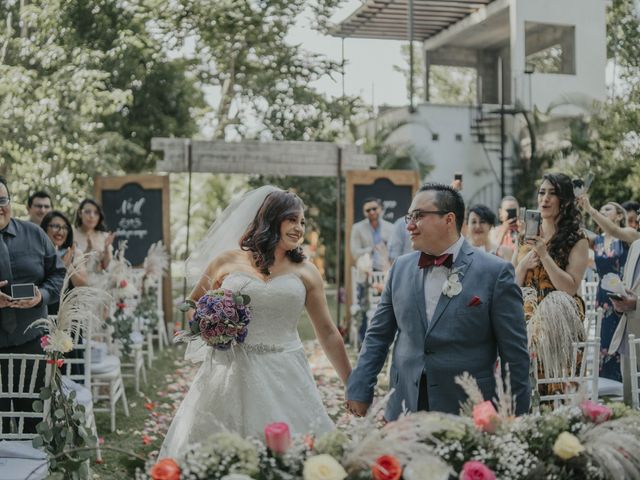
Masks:
[[[633,0],[613,0],[608,5],[607,46],[618,77],[611,98],[594,106],[577,95],[564,100],[588,114],[570,122],[560,146],[523,160],[516,192],[521,200],[532,199],[535,182],[547,169],[580,178],[593,173],[589,195],[596,208],[609,201],[640,198],[640,13]],[[549,119],[540,112],[535,116],[535,129],[543,134]]]

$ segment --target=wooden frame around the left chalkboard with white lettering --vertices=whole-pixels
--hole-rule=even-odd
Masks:
[[[123,175],[117,177],[95,177],[94,194],[96,200],[103,204],[102,192],[105,190],[120,190],[125,185],[137,183],[145,190],[162,191],[162,242],[171,257],[171,233],[169,224],[169,176],[168,175]],[[133,265],[141,267],[142,265]],[[173,301],[171,292],[171,261],[162,279],[162,308],[165,323],[172,322]]]

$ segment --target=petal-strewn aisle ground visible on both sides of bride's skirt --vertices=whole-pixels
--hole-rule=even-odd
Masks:
[[[329,416],[339,428],[348,428],[353,417],[345,414],[342,382],[317,341],[304,342],[304,347],[311,372]],[[353,363],[355,353],[350,351],[349,354]],[[160,447],[167,430],[169,430],[171,420],[180,406],[180,402],[189,391],[189,386],[198,371],[198,365],[184,359],[176,360],[174,365],[175,371],[165,376],[165,389],[156,392],[156,396],[160,400],[154,402],[149,398],[146,399],[145,407],[150,414],[145,421],[142,432],[134,432],[142,436],[142,442],[145,445],[157,443],[158,448]],[[152,455],[155,454],[157,451],[152,452]]]

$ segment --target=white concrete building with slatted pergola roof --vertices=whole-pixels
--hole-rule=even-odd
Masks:
[[[528,113],[562,125],[582,113],[567,100],[605,99],[605,9],[606,0],[366,0],[334,35],[421,42],[424,98],[385,109],[366,128],[404,123],[390,141],[425,152],[429,179],[462,172],[467,202],[496,207],[531,153]],[[473,69],[472,105],[430,101],[436,65]]]

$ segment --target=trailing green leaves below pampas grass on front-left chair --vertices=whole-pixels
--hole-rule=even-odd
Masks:
[[[73,390],[67,395],[63,393],[60,370],[52,365],[51,388],[43,388],[40,400],[33,405],[36,412],[41,412],[43,402],[51,402],[51,413],[36,425],[38,436],[33,439],[34,448],[44,447],[49,455],[51,477],[48,478],[56,478],[56,475],[69,479],[91,478],[89,459],[98,439],[87,430],[84,407],[75,398]]]

